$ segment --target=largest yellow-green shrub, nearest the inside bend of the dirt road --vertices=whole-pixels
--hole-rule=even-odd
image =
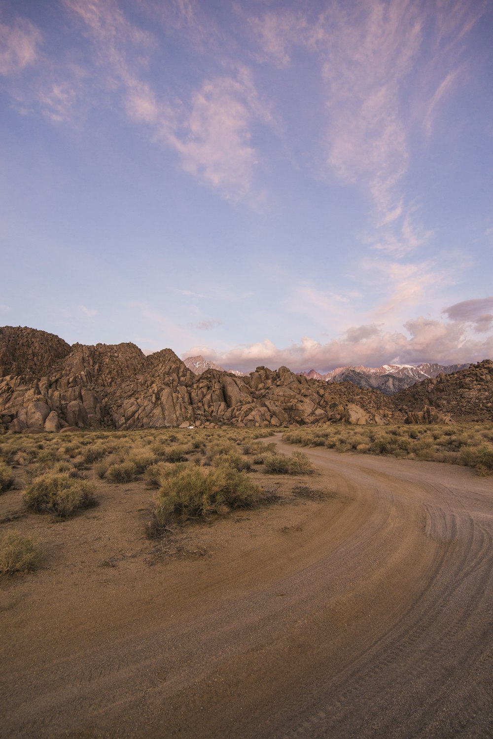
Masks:
[[[206,471],[195,465],[176,465],[162,480],[148,534],[156,535],[170,524],[184,524],[230,508],[247,508],[261,498],[261,488],[245,472],[225,466]]]

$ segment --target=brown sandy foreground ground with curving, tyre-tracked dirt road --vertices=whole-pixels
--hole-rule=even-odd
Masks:
[[[2,524],[44,558],[0,586],[0,736],[491,737],[492,478],[303,451],[322,500],[159,542],[142,483]]]

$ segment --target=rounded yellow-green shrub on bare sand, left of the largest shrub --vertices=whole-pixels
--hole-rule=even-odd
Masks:
[[[46,472],[35,477],[24,489],[24,501],[38,513],[66,518],[80,508],[94,504],[94,485],[89,480],[71,477],[68,472]]]

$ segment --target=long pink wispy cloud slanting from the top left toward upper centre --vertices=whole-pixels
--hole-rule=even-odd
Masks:
[[[190,98],[168,89],[158,93],[146,79],[156,40],[132,24],[111,0],[63,0],[86,25],[97,50],[97,64],[109,90],[120,89],[123,108],[135,123],[150,126],[155,142],[176,151],[181,168],[227,200],[252,199],[260,160],[252,143],[252,125],[269,123],[252,72],[235,65],[234,73],[205,78]],[[174,4],[173,17],[190,23],[193,5]]]

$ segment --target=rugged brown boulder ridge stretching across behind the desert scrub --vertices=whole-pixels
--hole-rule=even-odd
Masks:
[[[67,426],[142,429],[189,423],[263,427],[385,423],[404,420],[409,412],[420,419],[416,412],[435,404],[430,395],[437,396],[438,403],[449,397],[433,390],[441,378],[428,381],[435,385],[416,396],[412,393],[418,386],[405,391],[409,396],[394,396],[399,396],[396,404],[376,390],[350,382],[308,380],[287,367],[277,371],[257,367],[245,377],[218,369],[195,375],[170,349],[146,357],[130,343],[69,347],[58,336],[34,329],[7,327],[0,332],[0,422],[11,431],[56,432]],[[465,398],[475,403],[478,387],[486,388],[489,401],[481,395],[478,408],[489,412],[485,418],[492,418],[490,365],[466,370],[466,386],[460,389],[469,395],[455,393],[454,398],[462,399],[458,409],[463,409]],[[448,410],[437,407],[442,413]],[[428,412],[421,422],[440,417]]]

